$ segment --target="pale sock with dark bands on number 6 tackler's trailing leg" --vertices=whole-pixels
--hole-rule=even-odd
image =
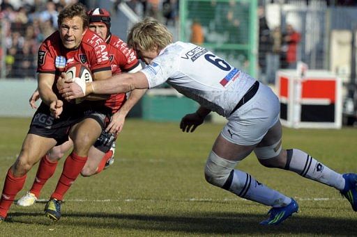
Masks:
[[[343,190],[344,178],[329,167],[312,158],[299,149],[287,150],[285,170],[291,170],[302,177],[325,183],[328,186]]]

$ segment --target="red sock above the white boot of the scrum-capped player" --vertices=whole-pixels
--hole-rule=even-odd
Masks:
[[[38,165],[35,181],[31,187],[30,193],[33,193],[36,197],[40,197],[40,192],[45,185],[46,181],[52,177],[56,171],[58,162],[52,163],[48,160],[47,155],[43,156]]]

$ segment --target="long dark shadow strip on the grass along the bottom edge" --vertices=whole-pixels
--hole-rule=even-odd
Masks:
[[[13,217],[44,216],[40,213],[13,213]],[[266,215],[232,214],[232,213],[193,213],[189,216],[181,215],[135,215],[110,213],[66,213],[66,220],[56,222],[63,227],[90,227],[110,229],[137,229],[144,231],[167,231],[181,234],[305,234],[328,236],[354,236],[357,233],[357,221],[342,218],[300,218],[298,214],[285,220],[275,227],[261,226],[259,222],[266,219]],[[44,217],[45,218],[45,217]],[[16,218],[17,219],[17,218]],[[35,224],[33,220],[21,221]],[[48,220],[36,224],[49,225]]]

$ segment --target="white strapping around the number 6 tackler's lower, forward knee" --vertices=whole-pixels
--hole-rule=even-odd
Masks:
[[[208,183],[222,188],[237,163],[238,161],[228,161],[221,158],[212,151],[204,168],[204,177]]]

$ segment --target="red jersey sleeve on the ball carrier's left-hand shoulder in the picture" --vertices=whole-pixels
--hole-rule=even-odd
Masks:
[[[37,72],[39,73],[54,74],[56,72],[56,67],[54,67],[56,56],[52,54],[50,47],[46,42],[43,42],[38,49]]]

